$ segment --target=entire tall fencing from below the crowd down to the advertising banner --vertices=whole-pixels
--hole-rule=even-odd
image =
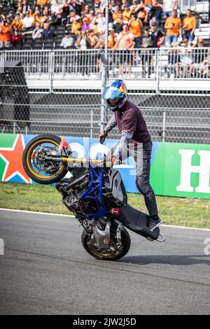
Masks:
[[[209,48],[195,50],[189,52],[187,70],[179,67],[179,77],[176,63],[168,65],[169,50],[109,54],[109,80],[123,72],[130,100],[141,109],[153,141],[209,143]],[[146,55],[151,56],[147,62]],[[98,50],[80,55],[20,50],[0,52],[0,57],[0,132],[98,137],[102,123],[111,118],[109,111],[102,118]],[[118,130],[109,136],[118,138]]]

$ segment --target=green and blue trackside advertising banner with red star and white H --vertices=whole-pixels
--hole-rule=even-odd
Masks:
[[[34,183],[22,167],[22,152],[32,135],[0,134],[0,181]],[[97,139],[65,137],[80,158],[103,154],[118,140],[104,146]],[[135,162],[118,167],[127,192],[139,193],[135,184]],[[210,199],[210,146],[204,144],[153,143],[151,185],[156,195]]]

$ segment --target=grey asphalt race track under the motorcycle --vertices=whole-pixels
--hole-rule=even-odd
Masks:
[[[130,232],[125,258],[104,262],[74,218],[0,210],[0,314],[210,314],[210,230],[162,232],[164,244]]]

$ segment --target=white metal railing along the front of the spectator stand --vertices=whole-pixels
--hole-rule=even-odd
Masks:
[[[48,81],[53,87],[57,79],[101,80],[103,56],[100,50],[6,50],[0,51],[0,61],[20,61],[27,79],[40,87]],[[140,48],[109,50],[108,78],[150,79],[210,79],[210,48]],[[41,85],[39,84],[41,82]]]

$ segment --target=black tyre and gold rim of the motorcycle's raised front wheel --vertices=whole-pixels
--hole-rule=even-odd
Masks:
[[[53,148],[58,148],[61,142],[60,137],[53,134],[41,134],[29,141],[22,155],[22,165],[27,175],[36,183],[52,184],[60,181],[67,173],[67,165],[61,163],[57,170],[49,174],[42,174],[32,164],[33,153],[41,144],[50,144]]]

